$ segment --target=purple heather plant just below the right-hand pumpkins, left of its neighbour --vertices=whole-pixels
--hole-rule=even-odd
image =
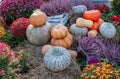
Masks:
[[[106,46],[98,38],[83,37],[78,40],[77,51],[83,53],[86,57],[103,57],[106,53]]]

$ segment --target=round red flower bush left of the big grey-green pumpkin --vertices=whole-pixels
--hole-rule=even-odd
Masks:
[[[10,25],[10,30],[14,35],[18,36],[26,36],[26,29],[28,25],[30,24],[30,21],[28,18],[18,18],[17,20],[14,20],[12,24]]]

